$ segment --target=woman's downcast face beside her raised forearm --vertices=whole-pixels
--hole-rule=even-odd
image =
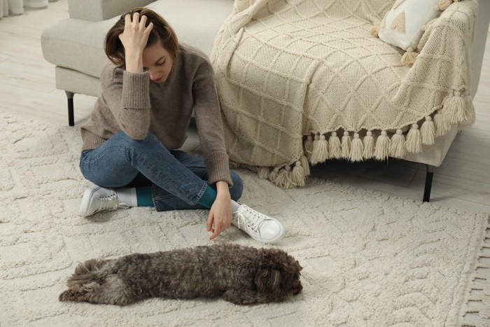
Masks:
[[[162,83],[172,70],[172,57],[160,42],[143,50],[143,69],[150,72],[151,81]]]

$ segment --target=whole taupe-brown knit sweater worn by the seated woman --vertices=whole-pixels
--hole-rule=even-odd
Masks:
[[[150,80],[148,72],[134,74],[107,64],[101,75],[102,95],[90,119],[81,127],[83,150],[97,148],[119,131],[133,139],[148,132],[169,150],[186,140],[195,111],[209,182],[232,185],[223,139],[214,72],[206,55],[181,44],[174,74],[164,83]]]

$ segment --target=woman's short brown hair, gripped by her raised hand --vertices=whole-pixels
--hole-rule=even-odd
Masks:
[[[146,47],[153,46],[160,41],[165,50],[168,51],[170,57],[172,57],[172,64],[175,66],[177,63],[177,55],[179,53],[179,41],[174,32],[174,29],[170,27],[169,23],[163,19],[158,13],[148,8],[134,8],[132,11],[121,15],[121,18],[116,24],[109,29],[106,34],[106,40],[104,41],[104,51],[106,52],[109,60],[113,62],[117,67],[125,66],[125,49],[123,43],[120,41],[119,36],[124,32],[125,16],[127,14],[133,17],[134,13],[139,13],[139,17],[146,16],[146,26],[153,22],[153,29],[151,29],[148,36],[148,42]]]

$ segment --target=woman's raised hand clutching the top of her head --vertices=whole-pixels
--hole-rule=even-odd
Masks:
[[[143,50],[148,43],[148,36],[153,29],[153,22],[146,26],[146,16],[139,13],[125,15],[124,32],[119,35],[125,49],[126,70],[132,73],[143,71]]]

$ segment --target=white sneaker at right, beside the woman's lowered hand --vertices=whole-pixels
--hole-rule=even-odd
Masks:
[[[260,214],[245,204],[240,204],[232,216],[232,225],[246,232],[255,241],[275,243],[279,242],[284,235],[284,228],[279,221]]]

